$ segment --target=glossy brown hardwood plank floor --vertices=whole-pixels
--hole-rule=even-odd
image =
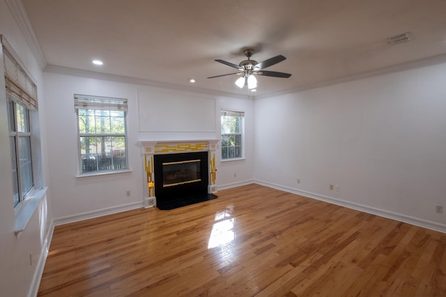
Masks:
[[[38,296],[446,296],[446,234],[252,184],[58,226]]]

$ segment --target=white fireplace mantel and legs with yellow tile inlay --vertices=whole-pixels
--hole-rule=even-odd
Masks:
[[[208,193],[217,193],[217,168],[215,168],[215,151],[220,139],[201,139],[184,141],[139,141],[144,161],[144,172],[147,186],[144,186],[144,207],[156,205],[155,172],[153,156],[155,154],[178,154],[185,152],[208,152]]]

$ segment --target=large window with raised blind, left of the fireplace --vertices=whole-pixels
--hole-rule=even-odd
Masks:
[[[127,99],[75,95],[80,173],[128,169]]]

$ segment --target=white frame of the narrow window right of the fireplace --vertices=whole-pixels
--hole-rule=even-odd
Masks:
[[[223,120],[222,117],[237,117],[240,118],[240,133],[237,133],[237,131],[234,131],[234,133],[223,133]],[[234,137],[234,145],[223,145],[224,136],[233,136]],[[237,136],[240,136],[240,145],[236,145],[236,138]],[[240,159],[245,159],[245,112],[243,111],[233,111],[231,109],[222,109],[220,111],[220,142],[221,142],[221,161],[235,161]],[[236,154],[236,147],[240,146],[240,155]],[[227,156],[224,157],[224,148],[228,149]],[[229,148],[233,147],[233,154],[234,156],[229,156]]]

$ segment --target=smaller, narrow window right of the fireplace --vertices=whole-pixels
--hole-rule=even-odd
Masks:
[[[245,113],[222,111],[222,160],[243,157],[243,118]]]

